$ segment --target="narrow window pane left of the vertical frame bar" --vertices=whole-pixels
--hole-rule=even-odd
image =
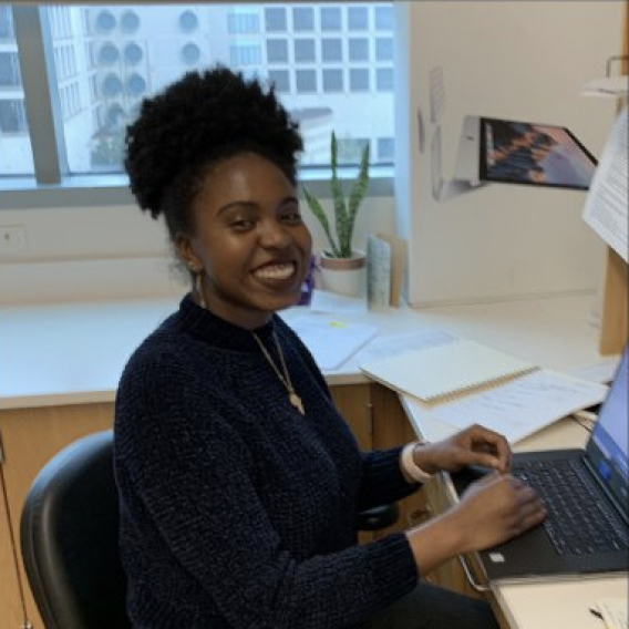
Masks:
[[[13,17],[6,6],[0,6],[0,176],[33,175]]]

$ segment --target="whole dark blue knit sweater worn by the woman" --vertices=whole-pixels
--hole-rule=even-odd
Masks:
[[[187,296],[128,361],[115,473],[137,629],[331,629],[409,592],[403,534],[357,545],[357,512],[413,491],[400,450],[363,455],[310,353],[275,316],[306,416],[251,332]]]

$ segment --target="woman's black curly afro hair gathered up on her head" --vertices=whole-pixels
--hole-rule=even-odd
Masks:
[[[259,153],[296,182],[298,131],[271,87],[216,65],[189,72],[143,102],[126,131],[125,169],[140,207],[174,224],[186,218],[205,168],[241,152]],[[176,190],[174,190],[176,188]]]

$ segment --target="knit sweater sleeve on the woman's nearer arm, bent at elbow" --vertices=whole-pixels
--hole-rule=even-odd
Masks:
[[[342,627],[416,585],[403,534],[329,555],[291,556],[257,494],[248,445],[225,419],[235,401],[200,395],[186,384],[186,365],[177,370],[176,383],[159,369],[126,379],[116,405],[116,473],[123,495],[142,496],[142,515],[157,527],[168,555],[229,626]]]

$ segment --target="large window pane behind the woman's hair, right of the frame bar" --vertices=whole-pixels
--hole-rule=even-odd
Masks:
[[[350,40],[343,19],[351,8],[354,28],[379,23],[378,37],[388,42],[394,34],[382,25],[389,16],[383,9],[389,6],[346,4],[48,6],[59,85],[55,96],[71,174],[122,172],[124,130],[142,100],[183,73],[216,62],[276,84],[301,124],[302,165],[329,164],[329,143],[321,137],[332,131],[348,140],[369,135],[373,145],[379,137],[392,136],[389,43],[377,49],[369,32]],[[2,14],[0,38],[2,29],[9,29]],[[330,38],[329,30],[323,37],[324,29],[339,30]],[[7,47],[0,50],[10,52]],[[371,50],[382,58],[378,73]],[[350,61],[360,62],[353,74]],[[0,56],[0,82],[14,80],[11,63]],[[367,120],[355,116],[364,110],[365,90],[372,90]],[[321,106],[323,95],[326,107]],[[22,109],[19,103],[4,107],[0,121],[11,128],[23,126],[23,103]],[[20,137],[30,147],[23,131]],[[378,163],[375,154],[373,163]]]

